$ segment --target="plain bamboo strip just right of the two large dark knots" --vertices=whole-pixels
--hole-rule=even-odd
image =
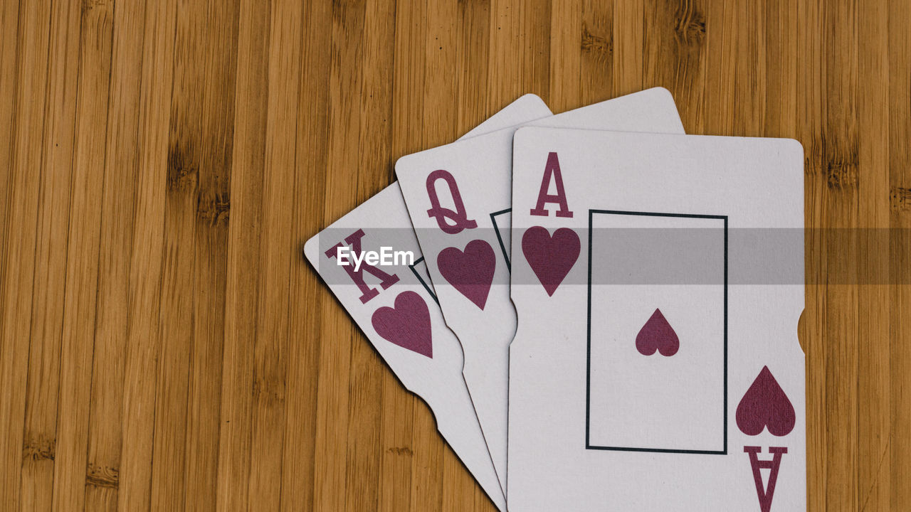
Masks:
[[[218,471],[216,499],[210,503],[210,507],[221,510],[247,508],[250,483],[256,337],[256,316],[252,312],[257,310],[260,281],[257,255],[262,225],[270,19],[268,3],[241,0],[237,22]],[[238,119],[242,121],[237,122]]]

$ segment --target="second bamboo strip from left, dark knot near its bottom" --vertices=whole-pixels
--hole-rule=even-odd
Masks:
[[[22,507],[46,510],[54,481],[60,337],[63,329],[67,266],[67,230],[72,187],[70,169],[76,128],[79,8],[52,5],[48,46],[47,115],[42,136],[41,189],[36,224],[36,263],[26,382],[23,435]]]

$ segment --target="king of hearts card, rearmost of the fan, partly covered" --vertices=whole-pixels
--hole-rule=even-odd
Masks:
[[[549,113],[539,97],[526,95],[471,133]],[[462,376],[462,348],[419,277],[421,251],[398,184],[312,237],[304,254],[405,388],[430,406],[440,434],[487,496],[506,510]]]

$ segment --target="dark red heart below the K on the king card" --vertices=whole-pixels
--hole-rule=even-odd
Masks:
[[[395,307],[384,306],[374,311],[372,322],[376,333],[384,339],[433,359],[430,311],[417,293],[399,293],[395,297]]]

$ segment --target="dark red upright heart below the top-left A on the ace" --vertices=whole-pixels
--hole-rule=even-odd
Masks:
[[[550,236],[547,228],[534,226],[522,235],[522,253],[549,296],[576,264],[580,246],[578,234],[569,228],[560,228]]]

